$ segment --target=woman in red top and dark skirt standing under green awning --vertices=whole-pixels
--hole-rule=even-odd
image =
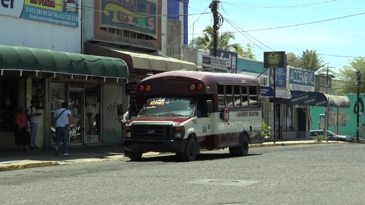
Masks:
[[[29,134],[29,121],[25,115],[25,107],[21,106],[19,112],[15,114],[15,144],[18,145],[18,150],[20,150],[20,145],[24,146],[25,151],[29,151],[28,144],[30,141]]]

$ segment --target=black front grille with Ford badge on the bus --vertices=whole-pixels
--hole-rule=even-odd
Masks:
[[[164,140],[170,139],[172,126],[170,125],[132,125],[132,139]]]

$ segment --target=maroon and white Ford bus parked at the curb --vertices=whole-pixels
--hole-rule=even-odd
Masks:
[[[200,149],[227,147],[244,156],[250,143],[262,143],[260,83],[251,76],[165,72],[138,83],[135,104],[138,115],[124,127],[131,160],[154,151],[193,161]]]

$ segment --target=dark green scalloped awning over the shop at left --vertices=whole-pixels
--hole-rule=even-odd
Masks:
[[[128,78],[128,66],[119,58],[21,46],[0,45],[0,70]]]

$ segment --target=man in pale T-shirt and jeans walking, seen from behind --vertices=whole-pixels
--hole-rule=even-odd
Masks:
[[[62,103],[62,108],[58,109],[52,118],[56,127],[56,140],[55,140],[55,154],[58,155],[58,147],[60,140],[63,142],[63,156],[68,156],[67,153],[67,141],[68,141],[68,128],[69,123],[72,121],[71,112],[67,110],[67,103]]]

